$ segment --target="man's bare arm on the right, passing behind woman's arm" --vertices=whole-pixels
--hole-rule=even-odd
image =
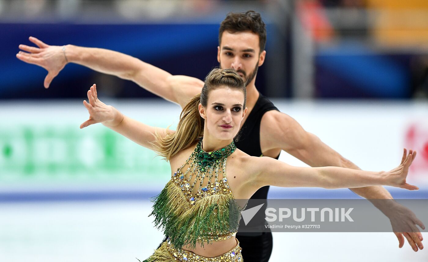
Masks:
[[[317,136],[306,132],[302,126],[290,116],[271,110],[265,113],[262,118],[261,133],[267,149],[280,148],[290,155],[300,159],[311,167],[336,166],[360,169],[342,157],[338,152],[324,144]],[[392,199],[391,194],[382,186],[370,186],[363,188],[352,188],[351,191],[366,199]],[[394,201],[371,201],[380,211],[382,211],[393,224],[396,214],[401,214],[401,220],[407,220],[409,223],[418,224],[425,228],[416,216],[402,205]],[[423,248],[422,234],[419,232],[394,232],[398,238],[399,247],[404,245],[404,237],[407,238],[413,250],[418,247]],[[404,237],[403,237],[404,235]]]

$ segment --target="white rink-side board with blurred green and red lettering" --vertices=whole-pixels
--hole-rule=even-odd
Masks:
[[[149,125],[175,128],[180,108],[160,99],[105,101]],[[428,105],[376,101],[273,100],[306,131],[364,170],[390,170],[402,149],[417,150],[408,181],[428,187]],[[101,124],[79,129],[88,118],[81,101],[16,101],[0,104],[0,188],[7,191],[59,188],[159,191],[169,165],[149,149]],[[305,166],[286,152],[280,160]],[[273,188],[272,196],[318,189]],[[320,191],[329,197],[336,193]],[[318,194],[318,193],[317,193]],[[339,194],[340,195],[340,194]],[[295,195],[294,197],[299,197]],[[314,197],[308,195],[308,197]]]

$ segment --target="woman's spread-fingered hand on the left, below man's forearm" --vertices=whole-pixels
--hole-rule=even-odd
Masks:
[[[88,125],[96,123],[113,122],[115,119],[115,109],[112,106],[104,104],[98,99],[97,87],[93,84],[88,90],[89,103],[83,100],[83,105],[89,112],[89,119],[80,125],[80,128],[85,128]],[[117,111],[117,110],[116,110]]]

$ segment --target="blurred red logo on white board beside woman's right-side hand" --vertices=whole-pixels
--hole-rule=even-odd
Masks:
[[[410,167],[412,173],[422,175],[422,171],[428,171],[428,126],[420,122],[410,125],[404,145],[407,149],[417,152],[416,159]]]

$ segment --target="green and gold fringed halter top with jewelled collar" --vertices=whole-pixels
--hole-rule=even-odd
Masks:
[[[189,244],[195,248],[197,241],[203,246],[204,242],[231,238],[238,231],[241,208],[233,198],[225,173],[227,157],[235,149],[232,141],[222,149],[205,152],[202,139],[199,140],[187,161],[152,200],[150,216],[155,217],[155,226],[169,237],[171,248],[181,250]],[[169,261],[162,260],[162,256],[170,256],[164,253],[168,250],[163,244],[145,262]]]

